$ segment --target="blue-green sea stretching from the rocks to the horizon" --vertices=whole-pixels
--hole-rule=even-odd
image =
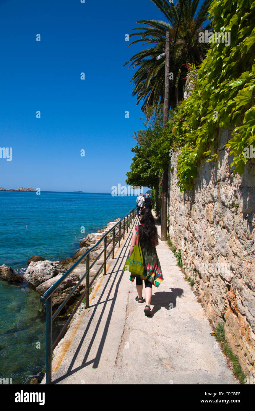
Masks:
[[[23,275],[31,256],[51,261],[74,256],[83,237],[135,205],[134,196],[0,191],[0,266]],[[0,378],[12,384],[28,384],[44,368],[46,321],[39,304],[40,295],[28,282],[0,279]],[[53,340],[61,325],[55,321]]]

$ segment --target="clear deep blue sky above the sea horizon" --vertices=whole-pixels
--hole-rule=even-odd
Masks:
[[[0,0],[0,187],[125,185],[144,115],[122,67],[141,44],[124,39],[140,19],[165,20],[150,0]]]

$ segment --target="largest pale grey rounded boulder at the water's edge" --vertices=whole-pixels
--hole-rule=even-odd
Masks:
[[[56,275],[63,275],[66,271],[66,268],[55,261],[32,261],[25,271],[24,278],[37,287]]]

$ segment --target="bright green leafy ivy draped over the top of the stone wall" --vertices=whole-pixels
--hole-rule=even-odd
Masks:
[[[201,157],[218,158],[221,128],[232,130],[225,147],[234,153],[234,173],[244,172],[244,148],[255,145],[255,1],[214,0],[209,13],[214,33],[225,32],[230,44],[211,42],[197,78],[190,68],[191,96],[177,108],[173,134],[181,147],[177,184],[182,192],[193,188]]]

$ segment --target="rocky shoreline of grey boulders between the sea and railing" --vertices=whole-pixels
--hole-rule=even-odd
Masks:
[[[34,286],[35,290],[42,296],[57,280],[59,280],[62,275],[73,266],[73,264],[91,247],[96,245],[96,243],[100,240],[100,238],[109,231],[117,222],[120,221],[120,218],[115,219],[113,222],[109,222],[103,229],[98,230],[96,233],[89,233],[87,237],[84,237],[82,241],[80,241],[80,248],[76,250],[74,256],[68,256],[64,260],[60,261],[49,261],[46,260],[44,257],[41,256],[32,256],[28,259],[27,264],[28,268],[25,271],[24,275],[16,274],[11,267],[7,267],[4,264],[0,266],[0,279],[14,282],[14,283],[21,283],[23,281],[28,281],[32,286]],[[119,227],[116,227],[116,231],[119,230]],[[123,233],[123,223],[121,234]],[[107,243],[113,238],[113,232],[107,235]],[[115,236],[115,240],[119,239],[118,235]],[[112,250],[112,243],[107,247],[107,253]],[[96,272],[100,269],[100,266],[103,263],[103,248],[104,242],[102,241],[99,245],[97,245],[92,252],[90,252],[90,261],[94,261],[100,253],[101,256],[99,259],[94,263],[93,267],[90,270],[90,277],[94,277]],[[70,275],[64,280],[61,286],[57,289],[57,291],[53,294],[52,299],[52,306],[53,308],[59,307],[71,290],[76,286],[80,278],[84,275],[86,259],[80,263],[78,267],[71,272]],[[94,284],[92,284],[92,288],[94,288]],[[82,295],[85,290],[86,286],[86,279],[83,279],[83,282],[78,286],[70,300],[68,301],[66,307],[62,310],[64,314],[65,310],[77,300],[77,298]]]

